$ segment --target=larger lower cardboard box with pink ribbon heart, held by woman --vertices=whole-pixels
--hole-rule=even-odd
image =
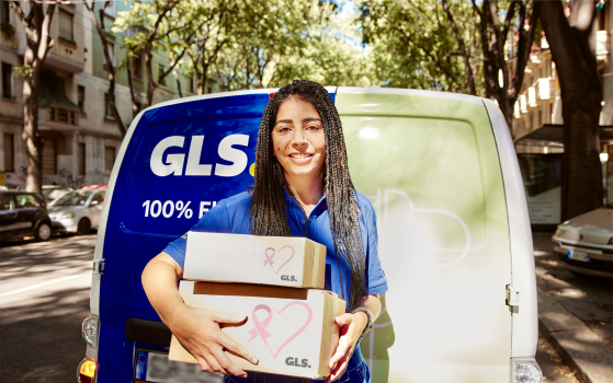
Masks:
[[[226,352],[239,368],[314,380],[330,374],[328,363],[339,341],[334,317],[345,310],[333,292],[188,280],[181,281],[179,292],[193,307],[248,316],[247,323],[222,329],[259,359],[253,365]],[[174,336],[169,359],[196,363]]]

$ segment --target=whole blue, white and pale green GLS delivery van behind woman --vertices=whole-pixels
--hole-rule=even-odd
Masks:
[[[443,92],[327,90],[355,188],[376,210],[389,286],[361,344],[373,382],[542,382],[530,221],[498,106]],[[217,201],[252,185],[274,92],[174,100],[134,119],[98,232],[80,382],[220,381],[168,360],[171,334],[140,274]]]

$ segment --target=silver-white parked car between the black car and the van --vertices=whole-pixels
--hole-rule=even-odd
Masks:
[[[98,229],[105,195],[105,189],[80,189],[54,200],[49,207],[53,230],[83,235]]]

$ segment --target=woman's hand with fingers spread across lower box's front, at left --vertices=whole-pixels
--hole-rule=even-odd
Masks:
[[[230,361],[224,350],[257,364],[258,358],[246,347],[222,332],[225,325],[239,325],[247,316],[182,304],[173,312],[169,328],[207,372],[247,378],[247,372]]]

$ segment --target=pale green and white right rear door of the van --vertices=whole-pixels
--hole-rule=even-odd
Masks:
[[[509,227],[481,100],[339,88],[337,108],[389,286],[362,340],[373,382],[509,382]]]

